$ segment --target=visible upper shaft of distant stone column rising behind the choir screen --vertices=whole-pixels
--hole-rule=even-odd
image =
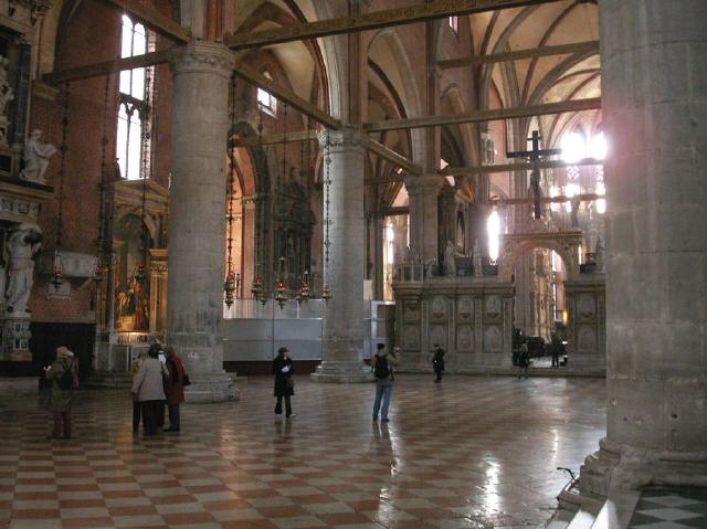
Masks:
[[[442,182],[436,174],[405,178],[410,207],[411,257],[421,263],[439,258],[437,198]]]

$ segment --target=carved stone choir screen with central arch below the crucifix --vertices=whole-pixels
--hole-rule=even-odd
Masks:
[[[402,349],[402,370],[430,371],[435,345],[445,352],[452,372],[503,373],[513,370],[514,265],[528,250],[555,251],[564,262],[568,366],[558,373],[605,372],[604,274],[602,264],[580,263],[582,233],[538,231],[502,236],[494,265],[466,256],[443,271],[434,265],[397,266],[395,343]],[[587,261],[587,258],[585,258]],[[449,271],[453,273],[449,273]]]

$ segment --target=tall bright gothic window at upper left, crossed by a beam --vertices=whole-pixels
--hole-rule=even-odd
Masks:
[[[154,45],[154,35],[124,14],[120,57],[143,55],[152,51]],[[147,156],[149,160],[149,139],[144,142],[143,136],[149,127],[146,81],[151,75],[152,68],[144,67],[120,72],[116,156],[120,174],[128,180],[143,178],[141,159]],[[144,149],[148,151],[144,152]]]

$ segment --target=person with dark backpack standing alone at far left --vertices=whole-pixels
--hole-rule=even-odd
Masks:
[[[49,409],[53,415],[51,438],[71,438],[71,405],[78,387],[78,362],[66,347],[56,348],[54,362],[44,368],[50,384]],[[63,435],[62,435],[63,433]]]

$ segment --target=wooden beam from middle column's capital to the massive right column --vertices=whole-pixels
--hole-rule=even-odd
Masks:
[[[560,103],[546,103],[544,105],[498,108],[495,110],[475,110],[466,114],[372,121],[365,123],[363,129],[367,133],[378,133],[381,130],[399,130],[403,128],[424,128],[437,127],[440,125],[456,125],[462,123],[495,121],[497,119],[544,116],[546,114],[562,114],[566,112],[595,110],[598,108],[601,108],[601,97],[591,97],[589,99],[570,99]]]

